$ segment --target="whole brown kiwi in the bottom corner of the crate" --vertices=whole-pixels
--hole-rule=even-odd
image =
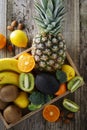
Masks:
[[[15,123],[22,117],[22,111],[15,105],[9,105],[3,111],[3,117],[7,123]]]

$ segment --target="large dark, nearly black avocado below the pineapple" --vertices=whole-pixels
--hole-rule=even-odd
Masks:
[[[44,94],[54,94],[59,89],[59,82],[49,73],[40,73],[36,76],[36,88]]]

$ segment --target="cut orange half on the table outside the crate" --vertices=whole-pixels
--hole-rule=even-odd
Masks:
[[[55,105],[47,105],[43,109],[43,117],[49,122],[55,122],[60,116],[60,110]]]

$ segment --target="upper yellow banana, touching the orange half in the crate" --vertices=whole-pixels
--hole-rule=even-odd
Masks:
[[[15,58],[2,58],[0,59],[0,71],[14,71],[21,73],[18,69],[18,60]]]

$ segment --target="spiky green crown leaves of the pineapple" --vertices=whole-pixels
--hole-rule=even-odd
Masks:
[[[65,14],[63,0],[35,0],[35,16],[37,24],[46,33],[57,35],[61,30],[61,22]]]

